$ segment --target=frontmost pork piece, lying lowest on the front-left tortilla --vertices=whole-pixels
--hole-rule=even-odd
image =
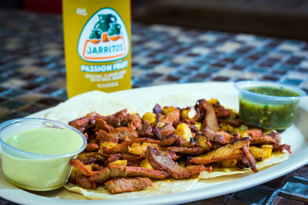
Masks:
[[[111,194],[124,191],[138,191],[145,187],[152,187],[152,181],[149,178],[118,178],[104,183]]]

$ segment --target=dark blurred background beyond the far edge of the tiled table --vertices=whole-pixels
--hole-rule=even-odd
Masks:
[[[0,2],[6,8],[62,12],[61,0]],[[138,22],[308,40],[308,0],[132,0],[132,15]]]

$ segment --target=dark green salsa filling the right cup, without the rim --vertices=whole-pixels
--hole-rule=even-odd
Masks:
[[[297,97],[301,93],[280,87],[249,87],[245,90],[281,97]],[[278,101],[241,95],[239,98],[240,119],[243,123],[264,129],[286,129],[291,126],[298,101]]]

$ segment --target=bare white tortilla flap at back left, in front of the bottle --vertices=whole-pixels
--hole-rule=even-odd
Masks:
[[[69,121],[84,117],[91,112],[107,116],[125,108],[129,113],[135,112],[134,106],[128,101],[114,97],[110,93],[94,90],[58,104],[47,113],[45,118],[68,124]]]

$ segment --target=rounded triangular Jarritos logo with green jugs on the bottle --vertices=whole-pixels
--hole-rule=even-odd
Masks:
[[[84,26],[78,54],[85,61],[106,62],[126,57],[129,39],[121,17],[111,8],[97,11]]]

